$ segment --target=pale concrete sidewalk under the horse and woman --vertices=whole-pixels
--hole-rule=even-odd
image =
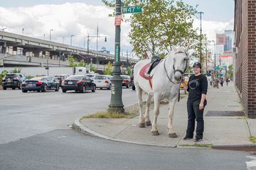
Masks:
[[[242,106],[234,84],[213,89],[209,87],[207,95],[208,105],[205,108],[205,132],[203,141],[198,144],[213,146],[252,145],[248,140],[250,135],[256,135],[256,120],[247,119],[245,116],[206,116],[208,111],[242,111]],[[177,138],[167,135],[168,106],[160,108],[158,118],[159,136],[151,135],[151,127],[139,128],[138,118],[132,119],[84,119],[75,126],[92,135],[103,137],[107,140],[130,142],[142,145],[155,145],[164,147],[183,147],[195,144],[193,140],[183,141],[187,125],[186,98],[176,103],[174,113],[174,130]],[[224,115],[228,112],[222,112]],[[232,112],[229,112],[232,113]],[[207,114],[208,115],[208,114]],[[153,111],[150,111],[153,120]]]

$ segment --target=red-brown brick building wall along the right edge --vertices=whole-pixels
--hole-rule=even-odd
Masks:
[[[249,118],[256,118],[256,0],[235,0],[235,86]]]

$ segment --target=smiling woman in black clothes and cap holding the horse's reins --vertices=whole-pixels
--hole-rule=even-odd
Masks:
[[[193,64],[193,72],[195,74],[189,77],[188,86],[182,81],[184,89],[188,91],[188,127],[183,140],[193,139],[196,120],[196,139],[194,141],[200,142],[203,140],[203,108],[206,106],[208,82],[206,76],[201,74],[201,64],[199,62]]]

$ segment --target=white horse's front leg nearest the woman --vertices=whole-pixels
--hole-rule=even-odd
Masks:
[[[174,120],[174,106],[177,101],[178,97],[171,98],[169,100],[169,120],[168,120],[168,136],[171,138],[178,137],[176,132],[174,131],[173,127],[173,120]]]

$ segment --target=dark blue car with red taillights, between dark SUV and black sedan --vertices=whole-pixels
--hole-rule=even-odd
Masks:
[[[21,90],[23,93],[28,91],[59,91],[60,85],[58,79],[55,79],[55,77],[33,77],[32,79],[23,81]]]

